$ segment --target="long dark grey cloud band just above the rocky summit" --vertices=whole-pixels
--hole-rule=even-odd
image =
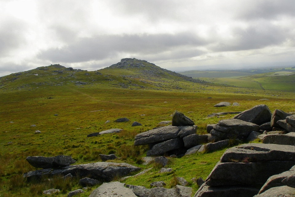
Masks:
[[[206,41],[191,33],[102,35],[80,38],[62,49],[42,51],[38,57],[58,62],[85,62],[116,57],[118,53],[158,54],[179,46],[201,46]]]

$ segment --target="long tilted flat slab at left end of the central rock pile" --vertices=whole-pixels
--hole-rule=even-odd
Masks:
[[[145,131],[135,136],[134,145],[146,145],[177,138],[180,129],[181,127],[166,126]]]

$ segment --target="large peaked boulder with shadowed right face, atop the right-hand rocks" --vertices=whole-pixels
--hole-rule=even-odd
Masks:
[[[267,123],[270,121],[271,112],[266,105],[256,105],[249,110],[245,110],[242,113],[235,115],[233,119],[262,125],[263,123]]]

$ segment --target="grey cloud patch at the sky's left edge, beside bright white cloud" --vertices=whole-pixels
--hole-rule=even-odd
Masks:
[[[0,57],[5,57],[10,50],[25,44],[25,22],[17,19],[3,20],[0,23]]]

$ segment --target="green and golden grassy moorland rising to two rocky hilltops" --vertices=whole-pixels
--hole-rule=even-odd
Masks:
[[[142,170],[152,167],[149,173],[122,183],[151,188],[151,182],[164,181],[165,187],[171,188],[180,176],[189,181],[194,194],[198,186],[190,179],[206,179],[226,148],[169,158],[167,167],[173,171],[159,174],[159,165],[142,165],[148,146],[133,146],[134,136],[171,120],[175,110],[198,125],[197,134],[205,134],[207,124],[234,116],[207,118],[211,113],[244,111],[258,104],[266,104],[271,111],[293,112],[294,75],[277,76],[276,72],[283,71],[209,80],[207,76],[190,78],[147,61],[126,58],[97,71],[56,64],[1,77],[0,196],[40,196],[50,188],[61,190],[54,196],[66,196],[69,191],[82,188],[79,177],[67,181],[58,176],[51,181],[44,177],[41,182],[27,182],[23,173],[36,170],[26,161],[27,156],[70,155],[77,161],[75,164],[84,164],[101,161],[99,154],[115,154],[120,158],[112,162],[129,163]],[[243,83],[228,82],[229,79]],[[269,100],[259,100],[263,98]],[[213,107],[222,101],[240,106]],[[130,121],[113,122],[123,117]],[[110,122],[105,123],[107,120]],[[134,121],[142,126],[131,127]],[[111,128],[123,131],[87,137]],[[36,130],[41,133],[34,134]],[[95,188],[77,196],[89,196]]]

